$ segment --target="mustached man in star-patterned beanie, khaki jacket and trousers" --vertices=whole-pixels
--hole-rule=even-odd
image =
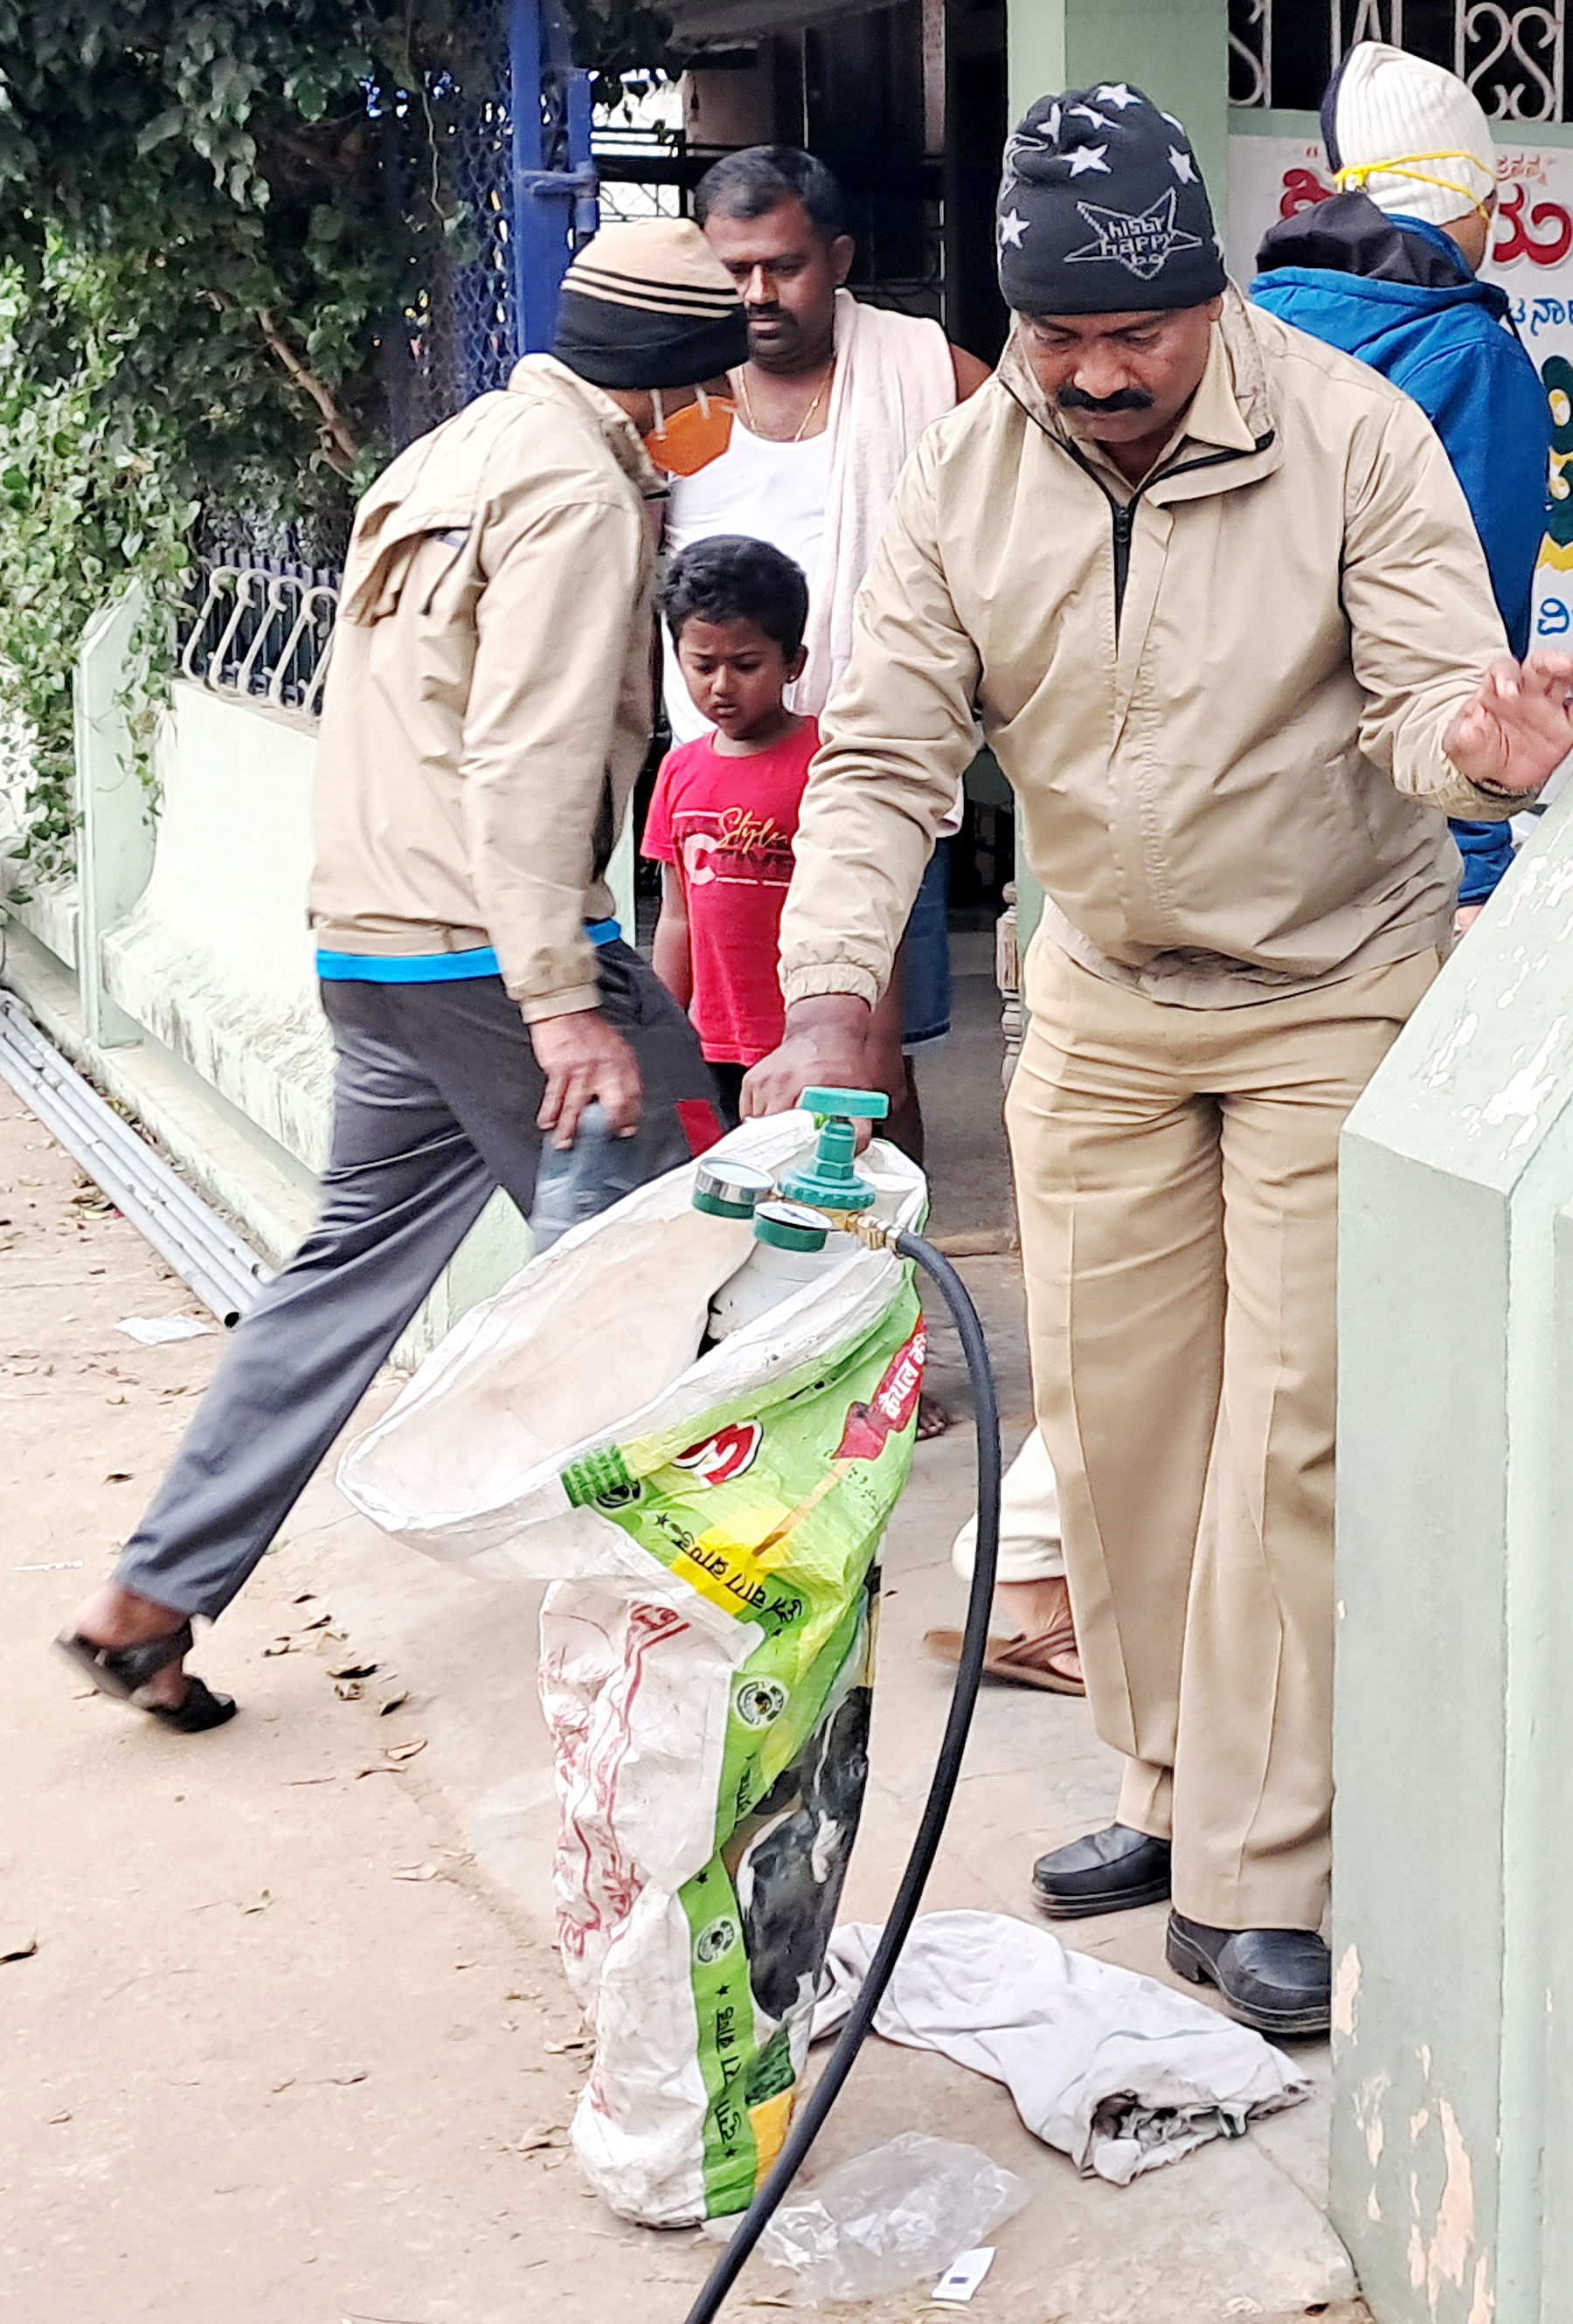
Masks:
[[[1178,121],[1101,84],[1006,149],[999,374],[925,437],[823,720],[746,1111],[857,1083],[974,704],[1046,890],[1008,1099],[1039,1422],[1118,1822],[1060,1917],[1327,2024],[1341,1122],[1438,969],[1445,816],[1573,744],[1506,658],[1429,423],[1227,286]]]

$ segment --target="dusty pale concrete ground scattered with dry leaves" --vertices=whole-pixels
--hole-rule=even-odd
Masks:
[[[562,2152],[586,2052],[551,1952],[534,1592],[383,1541],[323,1476],[200,1641],[239,1720],[177,1738],[86,1694],[44,1641],[107,1571],[221,1341],[116,1332],[195,1311],[2,1085],[0,1188],[0,2319],[590,2324],[639,2296],[681,2324],[713,2247],[609,2217]],[[1013,1264],[967,1274],[1015,1441]],[[943,1329],[936,1373],[960,1406]],[[853,1917],[883,1910],[943,1720],[920,1636],[955,1613],[969,1466],[962,1415],[918,1452],[890,1534]],[[1032,1857],[1111,1803],[1085,1706],[990,1694],[929,1906],[1025,1915]],[[1164,1975],[1157,1910],[1071,1941]],[[1313,2103],[1113,2189],[997,2087],[871,2043],[823,2159],[922,2124],[1018,2171],[1032,2201],[981,2317],[1357,2317],[1308,2064]],[[737,2315],[778,2303],[757,2266],[734,2294]],[[922,2287],[823,2312],[920,2308]]]

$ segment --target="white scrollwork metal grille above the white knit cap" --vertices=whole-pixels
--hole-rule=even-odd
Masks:
[[[1457,72],[1492,121],[1566,121],[1566,0],[1229,0],[1229,102],[1315,112],[1359,40]]]

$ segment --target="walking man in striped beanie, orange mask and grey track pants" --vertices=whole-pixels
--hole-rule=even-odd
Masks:
[[[60,1638],[195,1734],[184,1671],[376,1367],[541,1136],[599,1099],[639,1183],[720,1134],[692,1027],[611,918],[651,739],[665,476],[725,449],[748,325],[697,225],[599,235],[527,356],[411,444],[355,516],[316,762],[309,911],[335,1039],[318,1225],[235,1334],[116,1578]],[[688,437],[688,442],[681,442]]]

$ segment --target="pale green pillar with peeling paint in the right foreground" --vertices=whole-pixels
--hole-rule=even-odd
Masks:
[[[1343,1139],[1331,2217],[1378,2324],[1573,2315],[1573,809]]]

